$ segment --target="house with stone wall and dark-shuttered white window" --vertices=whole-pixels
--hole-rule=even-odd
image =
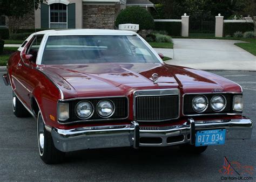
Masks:
[[[46,0],[24,15],[18,29],[114,29],[118,13],[128,6],[154,9],[149,0]],[[1,25],[8,24],[2,17]],[[0,25],[0,26],[1,26]]]

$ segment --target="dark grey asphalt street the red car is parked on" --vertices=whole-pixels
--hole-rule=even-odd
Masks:
[[[244,89],[244,115],[256,121],[256,72],[213,73],[240,83]],[[46,165],[38,153],[36,122],[32,117],[17,118],[12,114],[11,87],[4,86],[2,80],[0,124],[0,181],[217,181],[228,177],[219,173],[224,156],[230,162],[253,166],[250,177],[256,179],[255,130],[251,140],[209,146],[201,155],[180,153],[176,146],[97,149],[70,152],[64,163]]]

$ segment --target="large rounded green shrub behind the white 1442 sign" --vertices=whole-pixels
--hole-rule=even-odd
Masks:
[[[139,24],[140,30],[154,29],[154,19],[151,14],[140,6],[131,6],[120,11],[116,19],[116,26],[119,24]]]

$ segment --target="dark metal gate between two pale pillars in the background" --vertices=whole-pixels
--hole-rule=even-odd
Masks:
[[[190,37],[214,37],[215,17],[203,13],[190,15],[189,21]]]

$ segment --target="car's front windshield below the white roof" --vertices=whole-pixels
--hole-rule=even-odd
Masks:
[[[49,36],[41,64],[158,62],[137,36]]]

